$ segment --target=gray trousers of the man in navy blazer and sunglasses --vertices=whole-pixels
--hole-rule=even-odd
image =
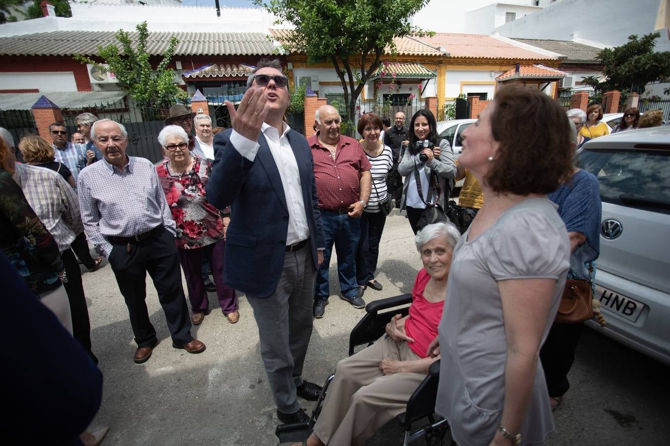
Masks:
[[[258,325],[261,357],[275,405],[282,413],[300,409],[295,388],[302,385],[302,366],[312,336],[316,269],[307,243],[287,252],[275,292],[265,299],[247,296]]]

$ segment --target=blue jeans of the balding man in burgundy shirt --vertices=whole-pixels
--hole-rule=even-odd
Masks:
[[[337,252],[337,270],[340,278],[340,291],[345,298],[356,296],[356,247],[360,237],[360,219],[354,219],[347,214],[338,214],[326,209],[320,209],[321,223],[326,235],[326,249],[324,249],[324,263],[316,273],[315,299],[328,300],[330,284],[328,283],[328,267],[333,243]]]

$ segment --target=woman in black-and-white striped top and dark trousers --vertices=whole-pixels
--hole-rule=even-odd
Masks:
[[[363,138],[360,145],[370,160],[373,177],[368,207],[360,217],[360,239],[356,254],[358,296],[362,296],[367,287],[377,291],[382,289],[381,284],[375,280],[379,240],[386,223],[386,215],[381,211],[379,202],[387,197],[386,177],[393,166],[391,148],[379,140],[382,126],[381,118],[374,113],[366,113],[358,120],[358,133]]]

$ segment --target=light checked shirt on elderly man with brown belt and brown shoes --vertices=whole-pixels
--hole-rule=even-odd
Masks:
[[[135,237],[158,225],[177,233],[153,164],[127,158],[123,173],[103,158],[84,169],[77,181],[86,235],[105,257],[112,251],[105,237]]]

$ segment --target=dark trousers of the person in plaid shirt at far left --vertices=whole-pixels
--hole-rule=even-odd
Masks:
[[[68,276],[68,283],[64,284],[65,292],[70,301],[70,314],[72,314],[72,336],[79,342],[88,356],[95,364],[98,364],[98,358],[91,350],[90,344],[90,320],[88,319],[88,308],[86,306],[86,296],[84,296],[84,285],[82,284],[82,273],[79,269],[77,259],[74,257],[72,249],[67,249],[60,253],[65,267],[65,273]]]

